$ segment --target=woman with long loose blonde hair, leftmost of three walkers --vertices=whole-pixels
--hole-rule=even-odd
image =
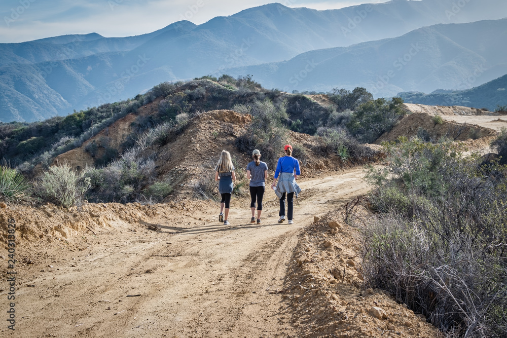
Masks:
[[[220,202],[219,221],[224,222],[224,226],[230,224],[227,218],[229,216],[231,195],[234,189],[234,184],[232,182],[236,180],[236,173],[234,170],[231,154],[223,150],[222,154],[220,154],[219,162],[215,167],[215,181],[220,180],[219,191],[222,196],[222,201]]]

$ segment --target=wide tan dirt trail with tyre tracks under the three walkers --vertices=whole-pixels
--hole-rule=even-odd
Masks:
[[[96,230],[82,251],[46,252],[51,267],[32,265],[18,278],[15,336],[298,336],[277,292],[298,234],[314,214],[365,194],[363,176],[355,168],[301,182],[292,226],[276,222],[268,191],[261,226],[248,223],[248,205],[236,200],[231,226],[214,221],[213,203],[190,215],[195,222],[181,215],[185,225],[155,217],[161,229],[153,232],[118,222]]]

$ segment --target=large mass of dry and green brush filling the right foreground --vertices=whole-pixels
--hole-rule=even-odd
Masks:
[[[507,336],[507,167],[458,146],[400,139],[370,168],[377,212],[364,230],[366,287],[449,337]]]

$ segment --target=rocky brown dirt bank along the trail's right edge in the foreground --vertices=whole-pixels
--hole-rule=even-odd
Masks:
[[[332,211],[300,234],[284,299],[302,337],[438,337],[439,332],[393,296],[363,286],[361,235]]]

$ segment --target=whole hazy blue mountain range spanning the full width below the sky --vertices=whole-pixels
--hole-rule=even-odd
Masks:
[[[329,11],[270,4],[139,36],[0,44],[0,121],[41,120],[205,74],[251,73],[285,90],[365,86],[383,96],[458,89],[475,67],[481,75],[466,88],[507,73],[506,20],[447,25],[502,18],[507,2],[459,4],[394,0]],[[437,23],[446,25],[421,29]],[[407,53],[410,62],[394,65]],[[304,79],[292,79],[300,73]],[[385,76],[388,84],[375,86]]]

